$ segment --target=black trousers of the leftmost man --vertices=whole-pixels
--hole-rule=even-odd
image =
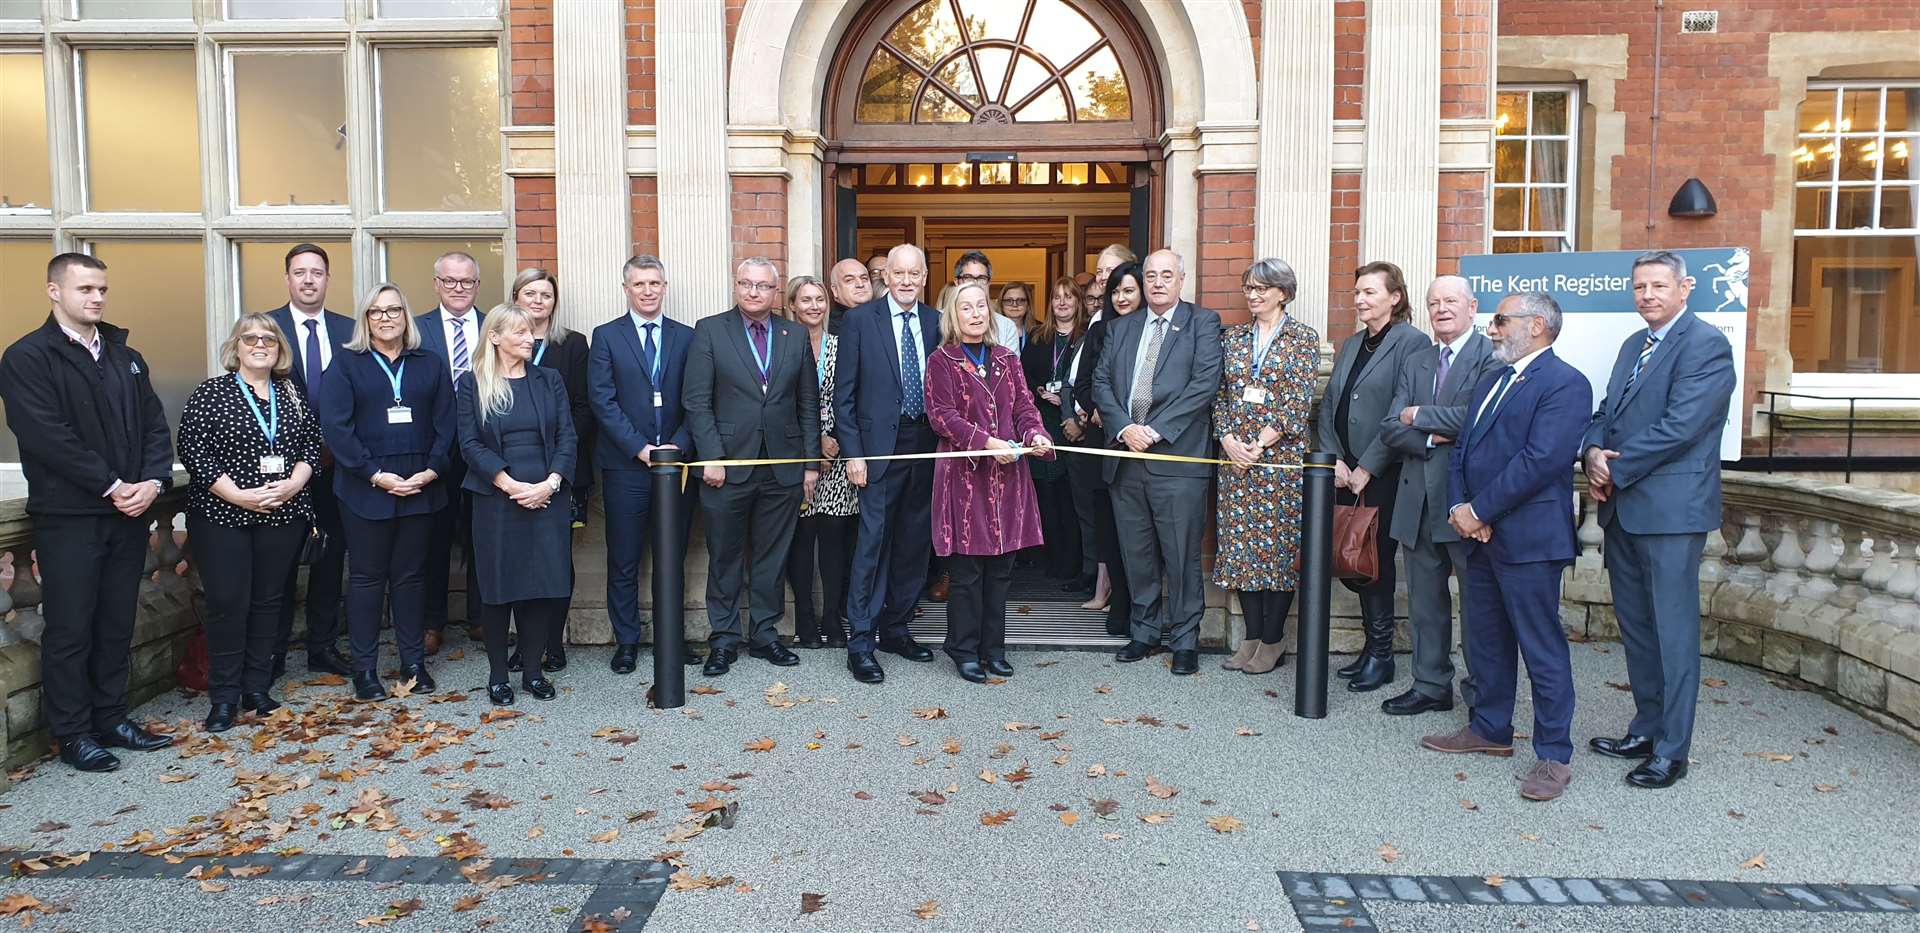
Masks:
[[[54,739],[106,731],[127,718],[127,655],[150,524],[119,513],[33,516],[46,618],[40,682]]]

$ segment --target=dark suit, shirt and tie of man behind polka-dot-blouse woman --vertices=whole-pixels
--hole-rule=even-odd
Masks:
[[[326,372],[307,372],[307,317],[294,315],[292,305],[275,307],[267,315],[273,317],[273,323],[280,326],[286,342],[294,347],[294,388],[311,405],[317,395],[313,392],[315,382],[324,382]],[[332,351],[328,359],[338,361],[346,353],[348,340],[353,340],[353,319],[323,311],[315,324],[313,338],[328,342],[328,349]],[[315,424],[319,424],[319,419],[315,419]],[[340,593],[348,559],[348,534],[340,526],[340,503],[334,501],[334,478],[326,461],[328,457],[323,451],[321,459],[313,463],[313,480],[307,482],[307,491],[313,497],[313,524],[326,534],[326,549],[307,568],[307,651],[332,647],[340,637]],[[280,597],[280,630],[275,637],[276,655],[286,653],[286,641],[294,635],[294,605],[300,601],[300,561],[294,561],[294,566],[286,572],[286,593]]]

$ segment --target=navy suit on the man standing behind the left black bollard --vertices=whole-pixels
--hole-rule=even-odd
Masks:
[[[607,507],[607,618],[620,645],[639,643],[639,561],[653,534],[653,478],[639,461],[639,451],[649,443],[674,445],[693,457],[687,411],[680,401],[693,328],[666,315],[655,323],[660,324],[655,332],[659,382],[632,313],[595,326],[588,349],[588,401],[599,420],[593,459],[601,466]],[[659,409],[653,407],[655,392],[660,394]],[[687,526],[697,488],[699,484],[687,484],[689,499],[682,509]],[[687,526],[682,526],[682,536]]]

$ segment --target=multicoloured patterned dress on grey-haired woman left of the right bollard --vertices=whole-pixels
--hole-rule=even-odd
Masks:
[[[1319,334],[1290,315],[1283,317],[1258,372],[1252,323],[1229,326],[1221,334],[1221,351],[1213,438],[1233,434],[1240,442],[1258,442],[1260,430],[1271,426],[1281,440],[1260,455],[1261,463],[1306,461]],[[1248,395],[1250,390],[1254,395]],[[1300,470],[1240,472],[1221,466],[1217,509],[1213,582],[1225,589],[1294,589],[1300,582],[1294,568],[1300,551]]]

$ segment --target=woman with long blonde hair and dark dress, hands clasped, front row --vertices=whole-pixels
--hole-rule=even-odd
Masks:
[[[505,706],[513,703],[507,622],[522,645],[545,645],[574,593],[566,503],[578,438],[561,374],[534,365],[532,315],[513,305],[488,313],[474,369],[461,374],[457,419],[463,486],[474,493],[488,699]],[[555,695],[538,668],[520,676],[520,687],[543,701]]]

